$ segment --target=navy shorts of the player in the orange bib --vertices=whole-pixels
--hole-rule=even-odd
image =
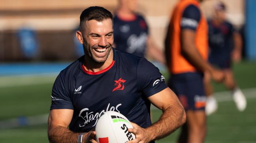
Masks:
[[[205,109],[206,96],[202,73],[173,74],[169,79],[168,86],[176,93],[185,110]]]

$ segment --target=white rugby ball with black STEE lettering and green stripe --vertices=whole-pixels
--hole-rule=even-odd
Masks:
[[[107,111],[96,123],[96,141],[98,143],[126,143],[135,139],[135,135],[128,132],[129,128],[133,126],[125,116],[115,111]]]

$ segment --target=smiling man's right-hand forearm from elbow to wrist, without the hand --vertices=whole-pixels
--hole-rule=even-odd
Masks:
[[[180,105],[169,106],[157,122],[146,128],[151,140],[164,138],[177,130],[186,121],[186,114]]]

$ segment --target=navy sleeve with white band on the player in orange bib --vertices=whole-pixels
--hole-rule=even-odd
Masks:
[[[192,29],[196,30],[198,22],[200,21],[201,14],[198,7],[195,5],[189,5],[183,11],[181,18],[181,29]]]

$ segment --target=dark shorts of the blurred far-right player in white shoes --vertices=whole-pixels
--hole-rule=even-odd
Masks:
[[[230,54],[215,55],[210,54],[208,58],[209,63],[220,68],[230,69],[231,68],[231,57]]]

